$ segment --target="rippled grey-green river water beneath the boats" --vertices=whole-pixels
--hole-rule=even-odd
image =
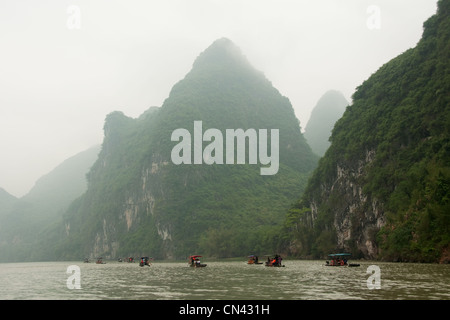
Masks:
[[[361,262],[348,268],[284,260],[284,268],[269,268],[245,261],[202,262],[208,266],[157,261],[150,267],[115,261],[2,263],[0,299],[450,300],[450,265]]]

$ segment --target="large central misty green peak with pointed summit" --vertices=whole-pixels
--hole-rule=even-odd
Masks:
[[[192,150],[183,156],[193,162],[174,163],[172,150],[180,142],[172,134],[185,129],[194,139],[196,121],[203,133],[218,130],[224,147],[228,129],[255,129],[258,135],[268,130],[269,137],[279,130],[276,174],[261,175],[269,165],[261,158],[250,164],[248,153],[245,164],[227,164],[225,150],[223,164],[206,164],[205,156],[194,163],[194,149],[206,150],[211,140],[191,140]],[[229,257],[276,250],[285,212],[317,164],[288,98],[228,39],[199,55],[161,107],[137,119],[113,112],[104,132],[88,191],[48,239],[58,243],[55,259],[184,258],[195,252]],[[269,154],[275,151],[272,142]],[[218,157],[217,149],[211,156]]]

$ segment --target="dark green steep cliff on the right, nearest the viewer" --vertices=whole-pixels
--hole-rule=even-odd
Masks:
[[[441,0],[417,46],[358,87],[336,123],[330,148],[286,220],[294,251],[366,256],[364,230],[377,258],[448,259],[449,130],[450,1]],[[351,199],[341,194],[349,186]],[[368,216],[377,220],[370,230]],[[348,235],[339,243],[345,224]]]

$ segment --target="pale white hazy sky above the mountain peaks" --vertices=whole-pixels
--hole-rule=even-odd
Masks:
[[[0,0],[0,187],[15,196],[101,143],[105,116],[161,106],[228,37],[304,129],[320,96],[414,47],[437,0]]]

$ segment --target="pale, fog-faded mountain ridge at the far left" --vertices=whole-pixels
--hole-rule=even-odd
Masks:
[[[42,260],[41,239],[86,191],[86,173],[99,151],[94,146],[66,159],[21,198],[0,188],[0,261]]]

